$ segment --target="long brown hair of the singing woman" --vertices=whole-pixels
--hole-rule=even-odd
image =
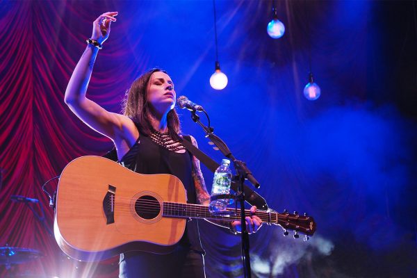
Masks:
[[[153,129],[151,124],[151,108],[147,100],[147,88],[154,72],[167,74],[167,72],[159,68],[148,70],[133,81],[129,90],[126,90],[126,95],[122,103],[122,113],[131,118],[133,122],[136,122],[139,127],[139,132],[145,135],[149,135]],[[167,127],[171,138],[178,138],[181,128],[177,111],[174,108],[167,114]]]

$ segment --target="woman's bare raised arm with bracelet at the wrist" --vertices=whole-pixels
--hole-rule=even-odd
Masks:
[[[99,44],[103,44],[110,34],[111,22],[116,21],[116,15],[117,12],[108,12],[97,17],[95,22],[93,22],[91,39],[97,40]],[[124,126],[131,124],[129,118],[108,112],[94,101],[85,97],[98,51],[99,49],[92,44],[88,44],[85,48],[83,56],[77,63],[67,85],[65,104],[85,124],[115,141],[124,132]]]

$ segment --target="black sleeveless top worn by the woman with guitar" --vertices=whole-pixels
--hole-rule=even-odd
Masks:
[[[183,138],[190,141],[189,136],[183,136]],[[172,152],[156,144],[149,136],[140,134],[138,140],[119,162],[124,167],[140,174],[172,174],[178,177],[186,188],[187,203],[196,204],[197,196],[191,175],[193,167],[191,157],[188,150],[182,154]],[[187,220],[186,231],[179,244],[204,253],[196,219]]]

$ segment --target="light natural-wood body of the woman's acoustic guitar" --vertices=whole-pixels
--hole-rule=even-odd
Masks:
[[[154,202],[156,208],[151,214],[140,211],[138,200]],[[58,184],[56,241],[83,261],[131,250],[168,253],[183,236],[186,219],[163,217],[163,202],[186,203],[177,177],[138,174],[99,156],[76,158]]]

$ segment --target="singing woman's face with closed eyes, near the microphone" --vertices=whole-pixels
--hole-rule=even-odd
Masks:
[[[170,76],[164,72],[154,72],[148,83],[147,101],[157,111],[165,113],[174,108],[176,97]]]

